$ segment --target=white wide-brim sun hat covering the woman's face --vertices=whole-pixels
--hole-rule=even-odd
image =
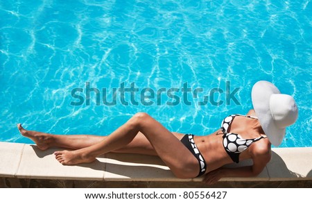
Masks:
[[[295,123],[298,109],[295,100],[288,94],[281,94],[268,81],[258,81],[252,87],[252,105],[268,140],[279,146],[286,127]]]

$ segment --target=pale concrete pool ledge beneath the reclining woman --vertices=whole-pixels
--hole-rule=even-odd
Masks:
[[[63,166],[55,160],[53,152],[60,149],[48,149],[40,151],[31,144],[17,144],[0,142],[0,187],[29,187],[30,180],[57,180],[62,181],[64,187],[69,181],[74,186],[81,185],[83,181],[115,182],[122,187],[130,186],[130,183],[146,182],[155,186],[172,183],[200,183],[202,178],[180,179],[175,178],[171,171],[164,165],[164,162],[157,157],[149,155],[107,153],[90,164],[80,164],[74,166]],[[250,165],[251,161],[240,162],[239,165],[232,164],[228,167]],[[20,183],[26,180],[27,185]],[[10,183],[11,181],[11,183]],[[12,185],[12,181],[19,182]],[[312,184],[312,147],[305,148],[274,148],[272,149],[272,159],[265,169],[257,177],[252,178],[222,178],[222,182],[285,182],[285,181],[309,181]],[[158,184],[161,183],[161,184]],[[112,183],[110,185],[112,185]],[[51,184],[51,183],[50,183]],[[106,186],[110,186],[106,185]],[[237,185],[237,184],[236,184]],[[36,185],[39,186],[39,185]],[[42,185],[44,187],[44,185]],[[56,186],[56,184],[53,184]],[[84,185],[81,185],[82,187]],[[85,185],[88,187],[89,185]],[[235,186],[235,185],[234,185]],[[49,186],[48,186],[49,187]],[[67,185],[65,187],[68,187]],[[89,186],[90,187],[90,186]],[[114,187],[116,187],[114,185]],[[118,186],[117,186],[118,187]],[[153,186],[152,186],[153,187]],[[226,186],[225,186],[226,187]]]

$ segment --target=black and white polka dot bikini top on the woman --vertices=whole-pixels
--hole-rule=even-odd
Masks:
[[[223,146],[229,157],[234,162],[239,162],[239,154],[248,149],[248,147],[258,140],[262,138],[266,138],[266,136],[257,137],[254,139],[243,139],[241,135],[236,133],[228,133],[228,128],[232,124],[234,117],[243,116],[251,119],[257,119],[257,117],[250,117],[245,115],[229,115],[225,119],[223,119],[221,124],[221,131],[223,132]]]

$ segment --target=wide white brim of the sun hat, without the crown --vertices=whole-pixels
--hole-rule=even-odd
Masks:
[[[285,128],[278,128],[270,110],[270,96],[280,94],[275,85],[258,81],[252,87],[252,106],[266,136],[274,146],[279,146],[285,135]]]

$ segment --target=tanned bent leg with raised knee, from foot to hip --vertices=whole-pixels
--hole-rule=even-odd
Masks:
[[[173,174],[182,178],[198,174],[198,161],[191,152],[162,124],[142,112],[137,113],[101,142],[76,151],[56,151],[55,158],[63,165],[92,162],[98,155],[123,149],[139,132],[144,134]]]

